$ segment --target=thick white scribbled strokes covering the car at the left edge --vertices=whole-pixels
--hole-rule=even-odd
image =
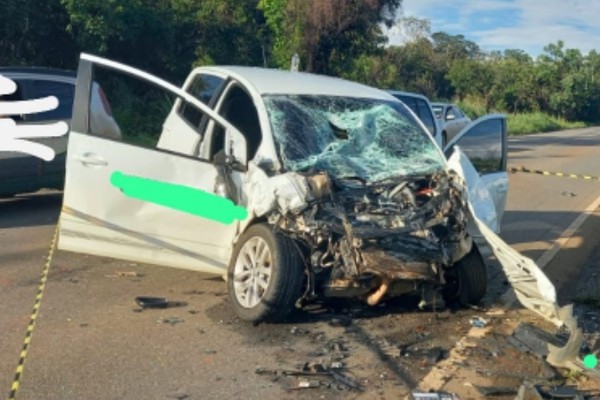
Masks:
[[[69,131],[69,125],[64,121],[17,125],[10,116],[54,110],[58,107],[58,99],[48,96],[26,101],[2,101],[2,96],[16,90],[17,85],[12,80],[0,75],[0,152],[26,153],[44,161],[52,161],[55,153],[51,147],[27,139],[60,137]]]

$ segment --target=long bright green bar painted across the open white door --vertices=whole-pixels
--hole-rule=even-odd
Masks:
[[[236,206],[231,200],[188,186],[125,175],[120,171],[112,173],[110,183],[120,189],[125,196],[226,225],[248,216],[248,211],[244,207]]]

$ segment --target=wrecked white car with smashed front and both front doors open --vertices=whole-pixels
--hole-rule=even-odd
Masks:
[[[94,132],[91,83],[107,74],[173,98],[155,143],[129,141],[123,126],[121,140]],[[74,104],[60,249],[226,276],[249,321],[281,320],[316,297],[375,305],[416,292],[428,304],[475,304],[486,293],[472,210],[487,235],[498,232],[508,180],[501,115],[475,121],[444,154],[402,102],[354,82],[211,66],[179,88],[86,54]],[[166,186],[135,196],[115,174]],[[201,216],[189,207],[203,204],[173,206],[184,192],[167,188],[245,212]]]

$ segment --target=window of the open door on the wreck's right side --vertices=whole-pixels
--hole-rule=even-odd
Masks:
[[[506,170],[502,119],[494,118],[480,122],[469,129],[455,145],[460,146],[480,174]]]

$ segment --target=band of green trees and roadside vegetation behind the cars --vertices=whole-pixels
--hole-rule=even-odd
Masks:
[[[458,102],[472,117],[508,114],[513,135],[600,120],[597,51],[584,55],[558,41],[535,59],[519,49],[485,52],[463,35],[432,32],[427,20],[398,18],[402,0],[5,0],[2,7],[0,65],[74,69],[86,51],[181,84],[196,65],[287,69],[297,53],[304,71]],[[386,45],[386,26],[406,41]],[[127,98],[111,99],[113,108]]]

